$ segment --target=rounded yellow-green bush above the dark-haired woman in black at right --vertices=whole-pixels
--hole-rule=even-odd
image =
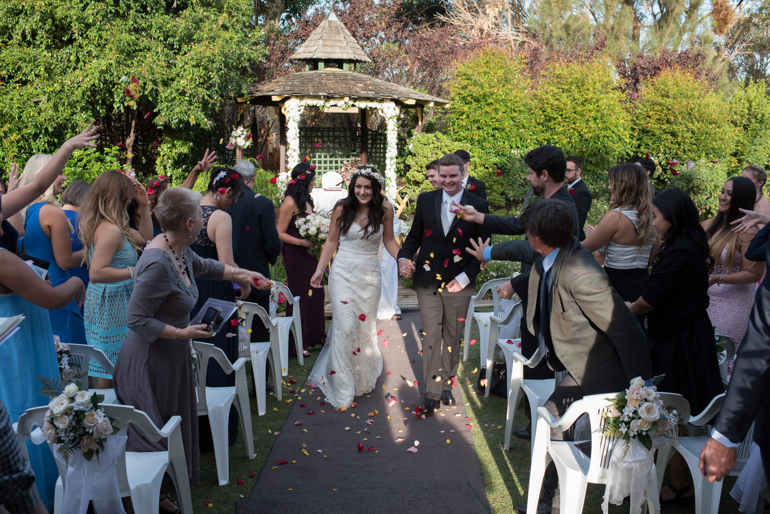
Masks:
[[[721,96],[688,72],[666,70],[642,82],[631,107],[635,155],[652,153],[658,162],[725,159],[737,131]]]

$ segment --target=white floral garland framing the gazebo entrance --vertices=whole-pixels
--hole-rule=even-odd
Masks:
[[[385,192],[387,198],[396,197],[396,157],[398,153],[398,113],[399,107],[390,100],[363,101],[347,100],[345,98],[306,98],[293,96],[284,103],[286,112],[286,165],[293,168],[300,163],[300,115],[305,105],[314,105],[325,110],[326,107],[337,105],[340,108],[375,108],[382,112],[387,120],[387,149],[385,151]]]

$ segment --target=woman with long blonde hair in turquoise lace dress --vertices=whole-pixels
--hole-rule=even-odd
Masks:
[[[141,206],[142,232],[129,228],[126,205]],[[83,318],[89,345],[105,352],[113,364],[126,333],[126,309],[134,289],[136,250],[152,239],[147,192],[139,182],[117,171],[96,177],[80,206],[80,239],[89,265]],[[91,361],[89,375],[99,389],[112,387],[112,375]]]

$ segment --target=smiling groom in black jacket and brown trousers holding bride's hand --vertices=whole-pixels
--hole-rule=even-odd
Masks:
[[[417,292],[425,331],[423,412],[426,414],[434,412],[442,402],[454,405],[452,378],[457,375],[460,364],[462,327],[458,318],[467,314],[480,269],[480,262],[465,249],[471,239],[486,237],[481,225],[463,221],[452,212],[455,210],[452,202],[489,212],[486,200],[463,189],[462,170],[463,161],[457,155],[447,154],[441,158],[440,189],[417,197],[412,229],[398,252],[399,272],[407,279],[414,277],[413,289]],[[418,249],[420,255],[413,262]]]

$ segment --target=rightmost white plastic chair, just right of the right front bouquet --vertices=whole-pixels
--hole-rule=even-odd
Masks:
[[[701,476],[698,463],[701,458],[701,449],[703,449],[706,441],[711,436],[711,430],[708,429],[707,423],[718,414],[724,400],[725,393],[723,392],[721,395],[715,396],[703,412],[697,416],[690,417],[689,423],[691,425],[705,427],[705,434],[703,436],[680,437],[671,441],[670,452],[663,456],[661,456],[661,452],[658,452],[658,487],[663,484],[663,474],[674,450],[684,457],[692,475],[693,492],[695,493],[695,512],[698,512],[698,514],[716,514],[719,511],[719,499],[721,497],[723,481],[708,482],[704,476]],[[746,461],[748,461],[748,457],[751,456],[753,433],[754,424],[752,423],[741,445],[738,446],[738,454],[736,456],[738,463],[735,468],[731,469],[728,475],[738,476],[741,474]]]

